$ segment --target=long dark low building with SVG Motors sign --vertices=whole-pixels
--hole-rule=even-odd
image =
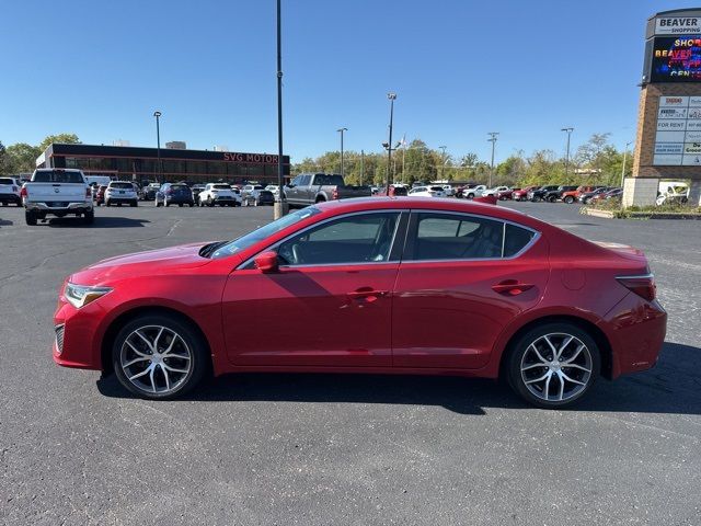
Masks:
[[[36,168],[77,168],[85,175],[110,175],[136,181],[223,181],[277,183],[277,155],[235,151],[137,148],[131,146],[65,145],[54,142],[36,159]],[[161,170],[159,170],[159,151]],[[285,181],[289,179],[289,156],[283,156]]]

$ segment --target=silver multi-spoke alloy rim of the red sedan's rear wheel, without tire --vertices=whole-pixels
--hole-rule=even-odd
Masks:
[[[528,391],[545,402],[577,397],[591,380],[591,352],[577,336],[543,334],[528,345],[520,362],[520,376]]]

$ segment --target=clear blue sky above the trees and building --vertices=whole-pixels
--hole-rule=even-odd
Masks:
[[[285,152],[381,150],[394,134],[487,160],[634,139],[646,19],[665,0],[284,0]],[[5,1],[0,140],[161,138],[277,150],[275,0]]]

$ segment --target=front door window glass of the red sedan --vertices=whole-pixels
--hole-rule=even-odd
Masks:
[[[399,213],[356,214],[287,239],[278,248],[283,265],[384,262],[390,259]]]

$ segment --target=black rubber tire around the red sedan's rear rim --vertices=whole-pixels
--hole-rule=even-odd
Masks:
[[[540,355],[533,353],[532,348],[538,351],[538,346],[541,345],[542,339],[545,336],[554,342],[553,344],[556,348],[560,348],[561,345],[563,346],[560,359],[555,359],[556,357],[553,356],[554,353],[552,353],[547,345],[540,347]],[[563,345],[570,336],[573,336],[573,340],[570,341],[571,343]],[[584,348],[579,350],[578,354],[575,354],[579,348],[579,343],[584,345]],[[528,403],[545,409],[565,408],[581,401],[582,398],[589,392],[601,368],[600,351],[591,335],[578,325],[567,322],[543,323],[533,327],[515,341],[507,353],[504,374],[512,389]],[[531,362],[530,359],[533,356],[542,356],[545,362],[541,362],[540,359]],[[572,364],[574,365],[565,366],[564,364],[566,364],[570,358],[573,359]],[[541,363],[543,363],[542,366],[540,365]],[[547,363],[552,365],[545,365]],[[521,365],[524,365],[527,370],[521,370]],[[582,368],[575,368],[576,365],[585,367],[585,369],[589,368],[589,373],[585,373]],[[566,399],[558,400],[556,398],[560,397],[560,391],[556,389],[559,389],[562,384],[565,384],[565,380],[562,380],[560,376],[561,373],[570,375],[573,379],[582,380],[585,385],[579,386],[575,382],[567,381],[572,388],[568,389],[572,395],[568,395]],[[533,378],[541,378],[541,376],[539,376],[541,374],[550,374],[552,378],[556,378],[552,384],[548,384],[549,392],[548,397],[544,398],[542,397],[544,386],[540,387],[540,382],[533,381]],[[527,384],[529,380],[527,378],[530,379],[530,385],[533,386],[532,388],[529,388]],[[533,391],[538,392],[539,389],[540,396],[537,396]],[[551,391],[556,392],[556,395],[552,395],[553,400],[549,399]],[[548,400],[545,398],[548,398]]]

